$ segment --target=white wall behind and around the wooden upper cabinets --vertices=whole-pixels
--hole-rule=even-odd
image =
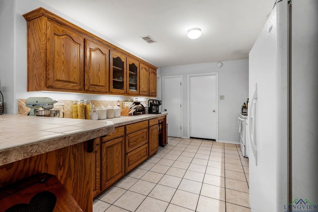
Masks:
[[[17,114],[17,100],[30,96],[51,97],[53,99],[79,99],[89,98],[93,100],[127,100],[132,97],[96,95],[96,94],[76,94],[58,92],[27,92],[27,41],[26,41],[26,20],[22,16],[38,7],[44,7],[53,13],[69,20],[79,27],[95,34],[96,36],[118,46],[119,48],[136,55],[125,49],[116,42],[105,38],[99,33],[91,30],[87,26],[68,17],[66,14],[38,1],[38,0],[0,0],[0,81],[1,92],[4,96],[4,113]],[[145,60],[144,58],[136,55]],[[145,60],[147,61],[147,60]],[[150,61],[147,61],[151,63]],[[139,97],[144,101],[147,98]]]

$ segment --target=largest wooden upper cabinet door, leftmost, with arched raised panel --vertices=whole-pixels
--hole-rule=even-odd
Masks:
[[[46,86],[83,89],[84,38],[68,27],[48,21]]]

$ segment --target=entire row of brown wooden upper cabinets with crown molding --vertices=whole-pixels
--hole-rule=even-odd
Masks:
[[[27,21],[27,91],[156,96],[156,67],[39,7]]]

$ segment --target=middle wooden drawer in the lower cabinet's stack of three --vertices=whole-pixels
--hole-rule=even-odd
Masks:
[[[148,128],[126,135],[126,153],[148,143]]]

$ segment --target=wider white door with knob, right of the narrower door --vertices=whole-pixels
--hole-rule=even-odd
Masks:
[[[188,75],[190,137],[217,140],[217,73]]]

